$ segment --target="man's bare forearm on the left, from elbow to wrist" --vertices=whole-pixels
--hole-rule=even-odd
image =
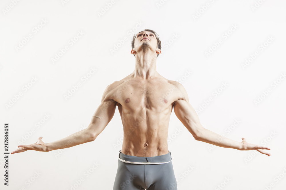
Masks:
[[[69,148],[69,147],[76,146],[79,144],[83,144],[86,142],[90,142],[93,140],[94,140],[94,138],[93,138],[92,134],[87,129],[84,129],[84,130],[78,131],[74,134],[71,134],[65,138],[62,138],[60,140],[50,142],[50,143],[46,143],[46,147],[47,147],[46,149],[47,149],[47,152],[49,152],[51,150]]]

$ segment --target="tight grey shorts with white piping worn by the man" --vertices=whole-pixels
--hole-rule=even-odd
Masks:
[[[139,157],[119,151],[113,190],[177,190],[171,152]]]

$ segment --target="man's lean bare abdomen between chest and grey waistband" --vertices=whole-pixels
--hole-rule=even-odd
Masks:
[[[123,119],[123,154],[140,157],[168,154],[170,114],[142,111],[139,114],[130,114],[130,117],[127,114]]]

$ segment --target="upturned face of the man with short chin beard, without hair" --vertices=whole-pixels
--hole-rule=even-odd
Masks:
[[[134,48],[132,50],[136,52],[142,51],[143,53],[148,50],[152,52],[158,51],[155,34],[149,31],[139,32],[134,40]]]

